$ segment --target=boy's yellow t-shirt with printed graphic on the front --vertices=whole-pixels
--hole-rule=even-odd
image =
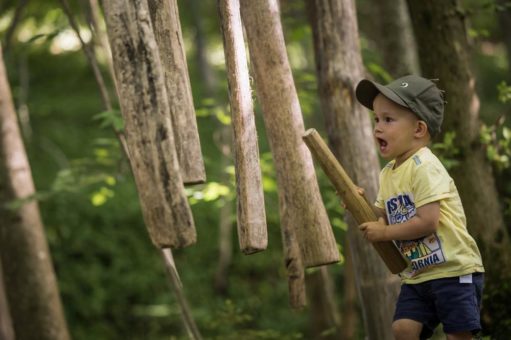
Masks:
[[[416,240],[394,241],[410,262],[401,274],[404,283],[484,272],[481,254],[466,227],[465,212],[454,181],[427,147],[397,169],[389,162],[380,173],[376,206],[385,209],[389,222],[403,223],[416,209],[440,201],[435,233]]]

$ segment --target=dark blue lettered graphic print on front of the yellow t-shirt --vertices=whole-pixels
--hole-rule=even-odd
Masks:
[[[385,202],[385,207],[390,224],[406,222],[417,213],[411,193],[389,198]],[[416,240],[396,241],[396,245],[412,263],[411,276],[424,268],[445,262],[442,244],[436,233]]]

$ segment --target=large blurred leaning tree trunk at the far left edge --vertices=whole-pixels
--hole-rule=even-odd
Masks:
[[[1,48],[0,98],[0,260],[14,331],[18,339],[69,339]],[[16,200],[20,207],[8,207]]]

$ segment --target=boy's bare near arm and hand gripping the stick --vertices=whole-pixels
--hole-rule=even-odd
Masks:
[[[363,223],[359,228],[364,233],[364,237],[371,242],[415,240],[435,232],[439,220],[440,202],[437,201],[418,208],[415,216],[406,222],[393,224],[389,227],[384,218],[380,217],[378,221]]]

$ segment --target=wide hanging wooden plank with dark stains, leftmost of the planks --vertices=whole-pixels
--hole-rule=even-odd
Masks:
[[[104,2],[130,162],[152,242],[180,248],[195,242],[170,109],[146,0]]]

